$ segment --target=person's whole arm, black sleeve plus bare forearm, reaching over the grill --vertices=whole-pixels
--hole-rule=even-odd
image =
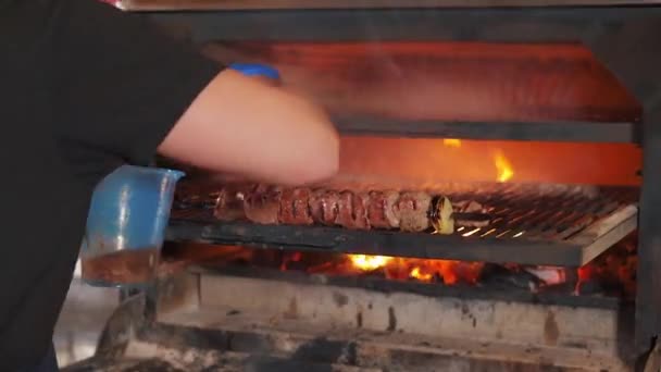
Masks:
[[[210,171],[287,185],[338,168],[339,140],[315,106],[223,70],[141,16],[96,0],[36,0],[66,146],[134,164],[157,150]],[[48,10],[48,12],[47,12]],[[240,61],[237,61],[240,62]]]

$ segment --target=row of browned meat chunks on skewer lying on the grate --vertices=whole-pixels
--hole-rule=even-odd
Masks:
[[[242,189],[248,191],[237,191],[230,186],[221,190],[216,218],[223,221],[245,218],[260,224],[317,223],[353,230],[423,232],[434,227],[441,234],[451,234],[454,230],[450,201],[422,191],[338,193],[265,185]],[[236,210],[239,200],[242,200],[244,214]],[[463,207],[473,210],[479,204]]]

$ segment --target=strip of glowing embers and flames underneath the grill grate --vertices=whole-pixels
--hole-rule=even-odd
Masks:
[[[636,234],[618,243],[590,263],[576,268],[494,264],[452,260],[396,258],[329,252],[272,251],[234,246],[187,244],[166,246],[162,272],[180,270],[182,262],[302,271],[313,275],[365,276],[429,285],[460,285],[498,288],[509,286],[532,292],[566,292],[574,295],[612,296],[634,299],[636,295]],[[177,269],[178,268],[178,269]]]

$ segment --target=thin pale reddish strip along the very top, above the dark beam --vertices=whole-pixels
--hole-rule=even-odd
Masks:
[[[659,0],[123,0],[132,11],[287,10],[381,8],[546,8],[632,7],[659,4]]]

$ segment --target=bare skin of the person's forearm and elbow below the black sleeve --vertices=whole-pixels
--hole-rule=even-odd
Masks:
[[[225,70],[195,99],[159,152],[208,170],[297,185],[337,172],[339,139],[317,107]]]

